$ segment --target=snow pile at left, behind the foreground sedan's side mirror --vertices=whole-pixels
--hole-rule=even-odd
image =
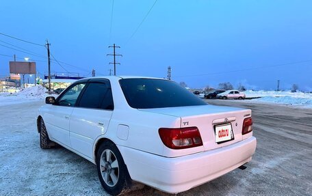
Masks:
[[[18,104],[24,102],[32,102],[34,100],[44,100],[48,94],[47,89],[42,85],[22,89],[15,94],[0,93],[0,106],[8,104]]]

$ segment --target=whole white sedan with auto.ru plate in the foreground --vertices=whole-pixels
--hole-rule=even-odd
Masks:
[[[81,79],[46,103],[40,147],[58,143],[96,164],[112,195],[137,184],[187,191],[244,169],[255,153],[249,109],[209,105],[165,79]]]

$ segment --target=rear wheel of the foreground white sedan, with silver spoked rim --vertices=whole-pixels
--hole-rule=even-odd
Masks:
[[[96,168],[107,193],[123,195],[129,192],[127,166],[114,143],[107,141],[101,144],[96,154]]]

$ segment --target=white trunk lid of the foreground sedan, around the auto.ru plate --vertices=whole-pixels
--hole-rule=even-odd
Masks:
[[[250,109],[213,105],[141,110],[180,117],[181,128],[196,126],[200,131],[205,151],[242,141],[242,125],[244,118],[250,117],[251,115]],[[226,128],[230,132],[232,130],[233,135],[230,135],[229,141],[218,141],[218,139],[216,139],[216,130],[217,135],[219,134],[220,136],[219,132],[223,129],[226,130]]]

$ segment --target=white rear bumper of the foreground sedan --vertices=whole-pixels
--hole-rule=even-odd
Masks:
[[[177,158],[157,156],[119,145],[118,148],[132,180],[167,193],[180,193],[248,163],[256,145],[255,137],[250,137],[223,148]]]

